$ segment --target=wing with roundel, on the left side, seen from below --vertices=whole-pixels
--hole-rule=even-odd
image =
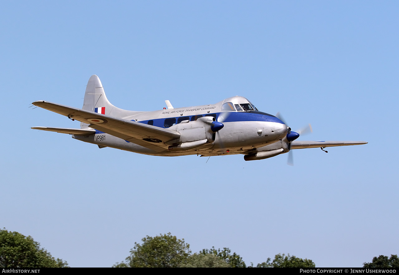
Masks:
[[[32,104],[65,115],[71,119],[89,123],[89,127],[91,128],[146,148],[156,150],[157,152],[168,150],[168,145],[166,145],[165,142],[180,138],[180,133],[170,129],[163,129],[144,123],[111,117],[57,103],[35,101]],[[148,139],[148,141],[143,140],[144,138]]]

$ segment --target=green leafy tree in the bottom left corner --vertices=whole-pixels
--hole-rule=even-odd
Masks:
[[[66,261],[55,259],[40,248],[31,236],[0,229],[0,267],[69,267]]]

